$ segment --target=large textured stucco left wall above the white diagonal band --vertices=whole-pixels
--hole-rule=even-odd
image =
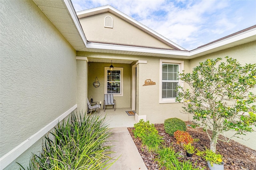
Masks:
[[[33,1],[0,6],[2,157],[76,104],[76,51]]]

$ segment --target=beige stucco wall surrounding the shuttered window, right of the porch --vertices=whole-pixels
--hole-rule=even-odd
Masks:
[[[161,58],[167,59],[167,58]],[[159,103],[160,58],[147,57],[147,63],[140,63],[137,67],[137,105],[138,115],[146,115],[150,123],[164,123],[165,119],[177,117],[188,121],[189,115],[183,114],[182,103]],[[174,59],[180,60],[180,59]],[[189,69],[189,61],[184,60],[184,69]],[[156,85],[143,86],[146,79],[156,82]]]

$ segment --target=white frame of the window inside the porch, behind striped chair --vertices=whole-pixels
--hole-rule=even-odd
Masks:
[[[107,90],[107,86],[108,86],[108,70],[110,70],[109,67],[104,67],[104,82],[105,82],[105,87],[104,87],[104,94],[107,94],[108,90]],[[120,77],[120,94],[116,94],[116,93],[111,93],[113,94],[115,97],[116,96],[123,96],[124,95],[124,68],[123,67],[114,67],[113,70],[120,70],[121,71],[121,77]]]

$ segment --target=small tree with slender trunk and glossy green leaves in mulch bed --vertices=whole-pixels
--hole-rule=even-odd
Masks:
[[[185,113],[200,121],[210,138],[210,150],[216,152],[221,132],[252,132],[256,125],[256,64],[241,66],[236,59],[207,59],[192,73],[180,73],[190,89],[179,88],[176,100],[184,100]],[[212,136],[208,133],[212,130]],[[233,137],[232,136],[232,137]],[[224,141],[229,142],[230,139]]]

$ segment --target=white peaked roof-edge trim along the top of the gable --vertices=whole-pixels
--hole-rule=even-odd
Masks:
[[[133,18],[131,18],[130,16],[120,12],[119,10],[113,8],[112,6],[110,5],[106,5],[106,6],[101,6],[101,7],[98,7],[98,8],[93,8],[93,9],[89,9],[89,10],[84,10],[84,11],[80,11],[80,12],[77,12],[76,14],[78,15],[82,15],[82,14],[88,14],[88,13],[91,13],[91,12],[96,12],[96,11],[100,11],[100,10],[108,10],[108,12],[110,13],[116,13],[117,16],[120,15],[124,18],[126,18],[127,20],[129,20],[130,22],[133,22],[135,23],[136,25],[140,26],[141,28],[143,28],[144,30],[147,30],[148,32],[150,32],[151,34],[154,34],[155,36],[161,38],[162,40],[174,45],[175,47],[179,48],[180,50],[186,50],[184,49],[183,47],[181,47],[180,45],[172,42],[171,40],[165,38],[164,36],[158,34],[157,32],[155,32],[154,30],[151,30],[150,28],[148,28],[147,26],[144,26],[143,24],[141,24],[140,22],[134,20]]]

